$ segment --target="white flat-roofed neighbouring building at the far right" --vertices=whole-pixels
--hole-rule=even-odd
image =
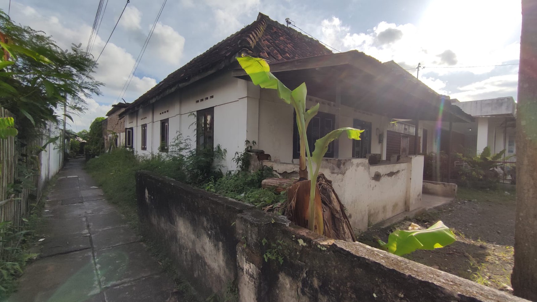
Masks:
[[[475,117],[474,123],[465,125],[465,150],[469,155],[481,153],[486,146],[492,154],[504,149],[506,156],[516,153],[517,103],[513,97],[454,102],[453,105]]]

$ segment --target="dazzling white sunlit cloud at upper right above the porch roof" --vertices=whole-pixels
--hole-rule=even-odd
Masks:
[[[502,74],[500,70],[489,65],[518,61],[518,2],[431,1],[423,18],[415,24],[381,21],[365,32],[353,32],[351,26],[332,17],[321,22],[321,33],[322,41],[342,51],[358,49],[381,62],[393,60],[405,69],[421,63],[425,68],[419,72],[420,80],[441,94],[451,94],[460,100],[516,95],[517,82],[510,75],[512,69],[498,76]],[[475,79],[468,72],[481,78],[490,76],[459,87],[448,85],[445,80],[445,76],[454,74]],[[415,70],[411,73],[416,76]],[[457,83],[461,82],[464,78],[458,79]]]

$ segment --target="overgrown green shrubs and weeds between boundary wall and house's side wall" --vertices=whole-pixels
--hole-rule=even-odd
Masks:
[[[166,153],[135,156],[132,151],[119,148],[89,160],[86,168],[98,185],[103,186],[111,202],[131,209],[135,208],[134,176],[139,170],[155,172],[258,207],[285,200],[284,194],[261,188],[263,179],[273,176],[272,168],[253,173],[228,172],[224,176],[220,161],[225,156],[226,150],[220,146],[214,150],[192,150],[188,140],[178,135]]]

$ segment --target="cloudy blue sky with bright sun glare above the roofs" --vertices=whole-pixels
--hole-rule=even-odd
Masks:
[[[106,2],[106,1],[105,1]],[[108,0],[92,55],[97,57],[126,0]],[[85,49],[98,0],[0,0],[21,25],[48,35],[62,48]],[[131,0],[98,61],[103,95],[69,127],[88,129],[120,101],[161,1]],[[293,21],[332,47],[357,49],[381,62],[394,60],[433,90],[460,101],[517,97],[520,1],[517,0],[170,0],[123,96],[134,101],[209,47],[255,21],[258,12]],[[510,65],[507,65],[510,64]],[[491,66],[502,65],[502,66]]]

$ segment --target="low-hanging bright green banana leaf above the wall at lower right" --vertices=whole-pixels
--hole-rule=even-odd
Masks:
[[[453,232],[443,222],[439,221],[426,230],[396,230],[388,236],[388,243],[379,240],[379,244],[386,251],[402,256],[410,254],[416,249],[432,250],[445,247],[455,242],[455,240]]]

